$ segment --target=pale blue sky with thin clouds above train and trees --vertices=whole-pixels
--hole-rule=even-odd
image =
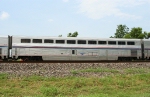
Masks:
[[[120,24],[150,32],[150,0],[0,0],[0,35],[109,38]]]

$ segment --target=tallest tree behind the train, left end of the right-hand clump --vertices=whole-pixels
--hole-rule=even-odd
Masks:
[[[115,36],[110,38],[123,38],[129,31],[129,28],[126,25],[117,25]]]

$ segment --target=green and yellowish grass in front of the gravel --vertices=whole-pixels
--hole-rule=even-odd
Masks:
[[[143,68],[117,70],[85,69],[78,72],[111,72],[106,77],[22,78],[0,74],[1,97],[150,97],[150,70]]]

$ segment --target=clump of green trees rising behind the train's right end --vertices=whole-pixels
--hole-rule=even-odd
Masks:
[[[133,27],[131,30],[126,25],[117,25],[116,33],[110,38],[127,38],[127,39],[149,39],[150,32],[142,31],[141,27]]]

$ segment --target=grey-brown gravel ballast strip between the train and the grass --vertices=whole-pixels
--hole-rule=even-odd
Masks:
[[[22,77],[30,75],[40,75],[46,77],[103,77],[113,75],[111,72],[78,72],[85,69],[113,69],[120,74],[125,69],[144,68],[150,69],[150,63],[0,63],[0,73],[7,73],[10,76]]]

